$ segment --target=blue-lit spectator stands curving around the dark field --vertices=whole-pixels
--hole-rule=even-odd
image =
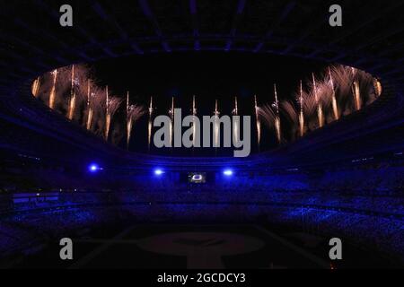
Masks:
[[[8,178],[4,173],[0,179],[10,185],[9,171]],[[208,173],[205,184],[192,184],[170,172],[161,177],[149,172],[72,178],[66,170],[44,168],[32,171],[31,178],[37,180],[30,187],[15,182],[12,189],[2,188],[0,253],[30,249],[66,231],[75,234],[75,230],[128,219],[254,222],[265,218],[339,234],[402,259],[403,171],[400,165],[257,174],[236,170],[232,177]],[[35,187],[42,180],[48,186]]]

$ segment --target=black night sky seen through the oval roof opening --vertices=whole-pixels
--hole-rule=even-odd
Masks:
[[[274,83],[277,83],[279,100],[291,99],[301,79],[310,79],[312,72],[321,73],[326,65],[268,54],[189,52],[120,57],[91,66],[93,76],[101,85],[108,83],[112,94],[124,96],[129,91],[131,103],[145,106],[153,96],[155,115],[167,114],[171,96],[175,96],[175,106],[182,108],[183,115],[190,113],[195,94],[198,116],[203,116],[212,115],[215,99],[219,100],[221,115],[231,115],[234,96],[239,99],[239,113],[251,115],[254,94],[257,94],[259,104],[274,100]],[[116,119],[119,117],[122,115]],[[146,151],[146,130],[146,118],[143,117],[136,123],[131,150]],[[263,132],[261,145],[261,151],[275,146],[270,132]],[[251,143],[251,146],[255,147],[255,144]],[[223,149],[219,153],[226,155],[232,151]],[[154,149],[152,152],[167,154],[168,151]],[[187,152],[177,149],[168,154]],[[209,151],[195,153],[208,155]]]

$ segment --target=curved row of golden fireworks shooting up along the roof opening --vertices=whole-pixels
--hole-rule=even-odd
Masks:
[[[275,102],[271,105],[259,107],[257,96],[254,96],[254,109],[257,127],[258,149],[261,143],[261,120],[274,128],[277,142],[281,143],[285,139],[293,139],[296,135],[303,136],[305,130],[312,130],[322,127],[326,122],[338,120],[342,115],[347,115],[354,109],[359,110],[364,105],[370,104],[382,94],[382,83],[371,74],[357,70],[354,67],[344,65],[331,65],[324,71],[324,75],[308,79],[306,86],[310,87],[303,91],[303,82],[300,81],[300,92],[296,91],[295,100],[281,102],[277,97],[277,86],[274,85]],[[86,84],[85,84],[86,83]],[[65,113],[66,117],[73,120],[78,115],[83,114],[83,126],[87,130],[92,130],[96,135],[101,135],[105,140],[114,142],[118,138],[116,135],[125,135],[124,125],[119,127],[118,123],[112,123],[112,117],[121,100],[110,97],[109,88],[101,88],[90,80],[89,69],[85,65],[70,65],[58,68],[50,74],[35,79],[31,85],[32,95],[40,98],[47,96],[46,100],[49,108],[60,108],[59,111]],[[361,92],[363,94],[361,94]],[[66,100],[65,100],[66,96]],[[233,116],[239,116],[238,99],[233,100]],[[297,105],[296,105],[297,104]],[[80,114],[78,114],[79,109]],[[148,111],[148,150],[151,147],[153,129],[153,98],[150,98],[148,109],[131,105],[127,92],[127,146],[133,132],[136,119]],[[197,115],[196,96],[192,97],[191,114]],[[219,116],[218,100],[215,100],[214,116]],[[173,142],[174,126],[174,97],[171,99],[170,142]],[[282,125],[281,125],[282,118]],[[289,124],[291,124],[289,128]],[[111,125],[114,128],[111,127]],[[284,130],[281,130],[281,126]],[[286,128],[287,127],[287,128]],[[120,128],[120,130],[119,130]],[[193,127],[194,135],[196,126]],[[291,137],[289,137],[289,131]],[[220,125],[216,119],[214,122],[214,145],[220,146]],[[233,122],[233,141],[236,143],[240,136],[240,123]],[[198,139],[198,138],[197,138]],[[193,137],[195,146],[196,137]]]

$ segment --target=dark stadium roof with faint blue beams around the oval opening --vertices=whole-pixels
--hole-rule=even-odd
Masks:
[[[340,1],[343,26],[336,28],[331,28],[328,22],[329,5],[333,3],[320,0],[304,3],[139,0],[123,1],[119,5],[113,1],[71,1],[73,27],[58,24],[61,4],[64,3],[35,0],[9,1],[2,5],[0,99],[4,105],[1,116],[13,124],[69,144],[75,142],[72,140],[75,135],[91,138],[78,126],[65,126],[66,131],[46,126],[41,117],[56,123],[64,119],[29,99],[31,80],[56,67],[133,54],[234,50],[338,62],[382,79],[385,95],[372,106],[276,151],[277,154],[299,154],[304,159],[319,149],[329,152],[336,144],[341,148],[347,144],[349,150],[358,142],[353,136],[362,136],[367,141],[402,133],[404,18],[401,2]],[[23,114],[24,107],[37,111],[40,116]],[[99,146],[96,149],[100,152],[113,150],[95,142],[97,139],[92,138],[80,145],[82,148],[85,144],[92,148]],[[402,139],[395,139],[391,149],[400,144]],[[381,148],[382,143],[372,151]]]

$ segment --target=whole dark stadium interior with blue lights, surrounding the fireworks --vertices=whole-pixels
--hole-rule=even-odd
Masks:
[[[334,29],[320,0],[71,1],[69,28],[61,1],[4,4],[0,267],[402,268],[404,4],[340,3]],[[159,113],[173,94],[189,109],[195,92],[207,114],[239,95],[253,117],[255,93],[273,101],[277,82],[292,99],[302,77],[339,64],[382,95],[294,141],[267,134],[245,158],[148,152],[146,133],[127,151],[32,96],[37,77],[78,64],[145,106],[155,94]],[[58,257],[66,237],[73,262]],[[329,260],[333,237],[344,260]]]

